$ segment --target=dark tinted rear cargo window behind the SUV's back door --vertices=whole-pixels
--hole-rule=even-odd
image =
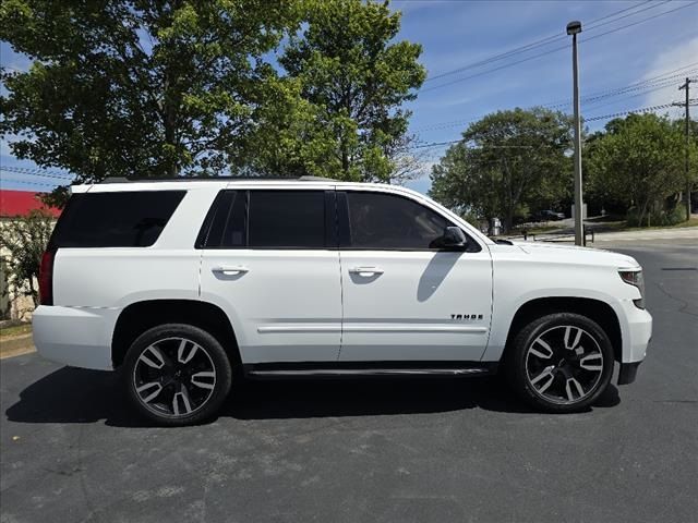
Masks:
[[[58,220],[56,247],[147,247],[153,245],[185,191],[73,195]]]

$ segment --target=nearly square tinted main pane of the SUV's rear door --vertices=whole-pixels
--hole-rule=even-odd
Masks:
[[[325,246],[323,191],[250,191],[249,246]]]

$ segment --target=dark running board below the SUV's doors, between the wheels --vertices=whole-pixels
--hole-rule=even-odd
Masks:
[[[493,367],[434,368],[257,368],[251,365],[245,375],[251,378],[334,378],[334,377],[396,377],[396,376],[484,376]]]

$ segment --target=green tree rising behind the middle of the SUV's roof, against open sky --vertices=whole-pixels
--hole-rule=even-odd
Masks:
[[[314,108],[310,114],[321,131],[310,122],[304,129],[317,138],[321,170],[345,180],[390,181],[409,147],[410,111],[402,105],[425,78],[421,46],[393,41],[400,13],[387,2],[315,0],[306,8],[306,24],[279,62]]]

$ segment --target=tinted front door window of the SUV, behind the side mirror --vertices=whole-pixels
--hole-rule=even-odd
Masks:
[[[347,192],[354,248],[434,248],[452,223],[433,210],[393,194]]]

